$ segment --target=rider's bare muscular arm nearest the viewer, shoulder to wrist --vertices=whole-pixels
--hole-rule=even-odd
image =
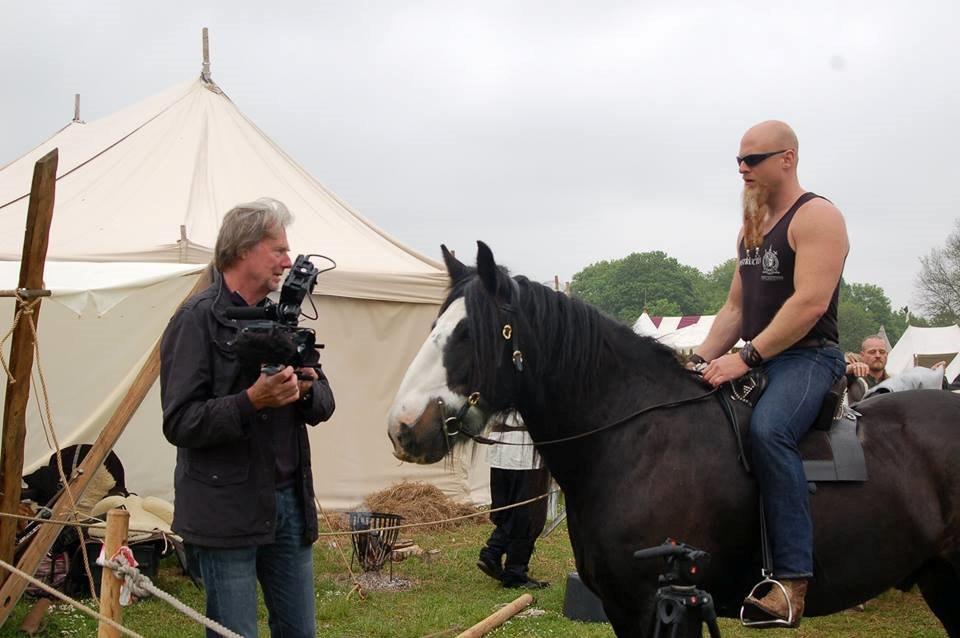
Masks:
[[[753,339],[753,346],[768,359],[806,335],[830,305],[840,281],[850,245],[840,211],[817,199],[801,209],[790,224],[788,239],[796,253],[794,293],[773,320]]]

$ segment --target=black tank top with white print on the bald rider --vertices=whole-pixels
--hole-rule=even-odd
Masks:
[[[794,202],[787,214],[763,236],[761,248],[747,250],[740,240],[740,281],[743,285],[743,320],[740,337],[750,341],[773,320],[784,302],[794,293],[793,269],[796,253],[787,240],[787,229],[800,207],[820,195],[804,193]],[[826,339],[839,341],[837,328],[837,301],[840,297],[840,282],[833,290],[830,306],[816,325],[798,341]]]

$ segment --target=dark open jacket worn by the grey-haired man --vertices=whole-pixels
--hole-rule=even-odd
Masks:
[[[312,543],[317,509],[305,424],[330,418],[333,393],[320,372],[305,399],[255,410],[246,389],[259,367],[242,365],[232,348],[238,323],[224,310],[239,303],[221,282],[217,274],[209,288],[184,303],[160,344],[163,434],[177,446],[173,530],[189,543],[211,547],[273,542],[276,460],[269,428],[292,423],[304,536]]]

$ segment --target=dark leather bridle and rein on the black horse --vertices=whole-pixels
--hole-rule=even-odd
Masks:
[[[518,338],[516,331],[513,329],[513,319],[516,317],[517,308],[519,307],[520,300],[520,286],[517,284],[516,280],[510,277],[510,283],[512,284],[513,291],[513,303],[502,303],[498,304],[498,310],[500,312],[501,318],[503,319],[503,328],[500,330],[500,335],[507,342],[509,346],[509,351],[511,354],[511,361],[513,362],[513,368],[517,375],[522,374],[524,370],[524,358],[523,351],[520,350],[518,343]],[[501,365],[502,365],[502,356],[501,356]],[[559,439],[550,439],[547,441],[537,441],[535,445],[537,447],[544,445],[556,445],[559,443],[568,443],[570,441],[576,441],[578,439],[583,439],[594,434],[599,434],[606,430],[611,430],[617,426],[623,425],[628,421],[635,419],[638,416],[646,414],[648,412],[653,412],[655,410],[665,410],[668,408],[680,407],[683,405],[688,405],[690,403],[696,403],[697,401],[702,401],[708,397],[713,396],[717,393],[719,388],[713,388],[708,392],[699,394],[693,397],[687,397],[685,399],[678,399],[676,401],[665,401],[663,403],[657,403],[655,405],[650,405],[645,408],[641,408],[632,414],[629,414],[625,417],[617,419],[612,423],[607,423],[600,427],[594,428],[592,430],[587,430],[586,432],[580,432],[579,434],[574,434],[571,436],[565,436]],[[443,433],[447,436],[447,440],[455,438],[458,434],[462,434],[467,438],[472,439],[477,443],[483,445],[527,445],[526,443],[509,443],[505,441],[498,441],[496,439],[490,439],[480,434],[475,434],[466,431],[463,429],[463,419],[466,418],[467,413],[471,408],[476,407],[480,403],[480,393],[471,392],[467,397],[467,400],[464,401],[463,405],[460,406],[460,409],[456,414],[450,415],[447,412],[447,406],[443,402],[443,399],[437,399],[437,405],[440,408],[440,414],[443,419]]]

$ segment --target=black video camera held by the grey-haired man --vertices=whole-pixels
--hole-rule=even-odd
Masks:
[[[318,270],[309,257],[327,259],[333,266]],[[280,300],[264,306],[227,308],[228,319],[246,320],[233,341],[233,347],[246,363],[262,366],[267,374],[276,374],[285,366],[319,368],[323,344],[316,342],[311,328],[298,326],[304,298],[313,292],[317,276],[336,264],[323,255],[298,255],[280,289]],[[311,304],[313,300],[311,299]],[[316,310],[316,307],[314,307]],[[317,317],[308,317],[316,319]]]

